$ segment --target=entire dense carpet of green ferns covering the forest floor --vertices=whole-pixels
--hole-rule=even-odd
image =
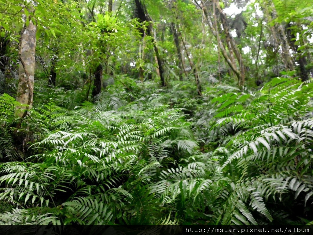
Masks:
[[[312,224],[313,83],[0,97],[0,224]]]

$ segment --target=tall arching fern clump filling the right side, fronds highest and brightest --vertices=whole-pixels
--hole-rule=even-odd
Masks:
[[[210,101],[210,130],[223,140],[210,154],[221,164],[216,174],[231,180],[218,223],[281,221],[268,205],[285,203],[291,192],[306,206],[313,194],[312,92],[312,83],[277,78],[256,94],[229,92]]]

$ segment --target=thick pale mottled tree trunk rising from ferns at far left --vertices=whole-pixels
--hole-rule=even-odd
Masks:
[[[33,106],[33,88],[35,74],[36,25],[30,20],[24,26],[19,42],[18,91],[16,101],[23,106],[18,107],[15,115],[24,118]],[[21,111],[24,110],[24,111]]]

